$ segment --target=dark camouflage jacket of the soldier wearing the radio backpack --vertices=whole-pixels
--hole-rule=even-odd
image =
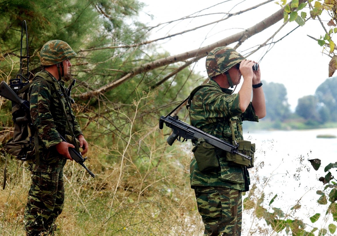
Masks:
[[[50,81],[54,81],[60,90],[57,91],[55,85]],[[57,92],[59,92],[65,104],[67,119],[72,126],[74,135],[77,137],[83,134],[72,113],[71,104],[65,98],[65,91],[64,83],[58,82],[46,71],[36,73],[30,86],[30,114],[39,137],[39,161],[42,166],[56,167],[64,165],[66,161],[65,157],[61,156],[55,148],[55,145],[62,141],[59,134],[63,135],[63,137],[65,134],[69,134],[63,105]]]

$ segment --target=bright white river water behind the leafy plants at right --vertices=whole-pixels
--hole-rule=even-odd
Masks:
[[[251,186],[256,184],[254,194],[258,197],[260,192],[265,193],[262,206],[269,212],[272,207],[280,208],[287,219],[302,219],[307,225],[306,231],[311,227],[328,228],[333,222],[331,215],[325,215],[327,205],[317,203],[320,195],[317,190],[324,190],[320,176],[325,176],[324,168],[329,163],[337,161],[337,139],[317,138],[317,135],[329,134],[337,136],[337,128],[292,130],[292,131],[248,131],[244,139],[256,144],[254,167],[250,169]],[[316,171],[309,159],[321,160],[321,167]],[[331,169],[336,176],[336,169]],[[337,177],[337,176],[336,176]],[[326,193],[329,193],[328,189]],[[247,193],[248,194],[248,193]],[[243,197],[247,197],[247,194]],[[269,205],[277,194],[274,202]],[[291,210],[295,205],[297,210]],[[329,204],[329,203],[328,203]],[[309,217],[320,213],[319,220],[311,223]],[[258,228],[268,228],[264,220],[253,217],[251,211],[243,212],[242,235],[286,235],[285,232],[261,232]],[[251,228],[251,229],[250,229]],[[315,235],[318,231],[315,232]],[[291,235],[291,234],[290,234]]]

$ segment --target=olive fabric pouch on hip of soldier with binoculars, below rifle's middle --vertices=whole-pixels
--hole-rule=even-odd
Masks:
[[[200,171],[207,172],[219,167],[215,147],[206,143],[204,138],[198,139],[192,152]]]

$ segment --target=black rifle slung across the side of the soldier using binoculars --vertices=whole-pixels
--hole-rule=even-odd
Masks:
[[[172,146],[174,141],[178,140],[179,142],[184,142],[189,139],[191,140],[198,140],[200,138],[204,138],[206,143],[209,143],[217,148],[220,148],[226,152],[230,152],[232,154],[240,155],[247,160],[251,160],[252,158],[240,153],[238,151],[238,143],[236,146],[229,144],[221,139],[218,139],[217,137],[212,136],[209,133],[206,133],[200,129],[197,129],[193,127],[192,125],[189,125],[181,120],[179,120],[178,116],[161,116],[159,119],[159,128],[163,128],[163,124],[167,127],[170,127],[172,129],[172,134],[167,138],[167,143]]]

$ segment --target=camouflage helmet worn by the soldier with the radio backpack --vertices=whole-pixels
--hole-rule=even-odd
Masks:
[[[62,40],[51,40],[42,46],[40,63],[42,66],[59,64],[76,54],[77,53],[74,52],[66,42]]]

